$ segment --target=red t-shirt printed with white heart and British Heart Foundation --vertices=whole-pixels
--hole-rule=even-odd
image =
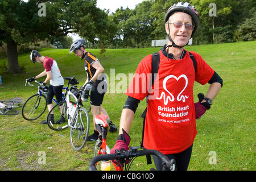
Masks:
[[[160,51],[158,77],[151,83],[152,55],[139,63],[127,89],[127,96],[143,100],[148,95],[143,146],[163,154],[176,154],[186,150],[196,137],[196,113],[193,102],[193,85],[197,81],[207,84],[214,70],[195,52],[193,67],[189,53],[181,60],[167,60]]]

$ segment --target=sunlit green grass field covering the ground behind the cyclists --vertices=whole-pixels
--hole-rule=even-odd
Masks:
[[[200,53],[205,61],[222,77],[224,87],[218,94],[212,109],[197,121],[197,137],[189,170],[230,170],[253,171],[255,164],[255,43],[241,42],[214,44],[205,46],[189,46],[188,51]],[[117,85],[122,80],[115,76],[134,73],[139,61],[144,56],[159,51],[159,48],[144,49],[107,49],[100,55],[100,49],[88,49],[98,57],[109,76],[109,85]],[[57,60],[64,77],[76,76],[80,85],[85,81],[84,63],[74,54],[69,55],[68,49],[42,49],[44,56]],[[0,100],[19,97],[24,101],[36,92],[36,88],[24,86],[25,79],[38,75],[43,71],[42,64],[33,64],[30,54],[19,55],[19,64],[25,72],[7,75],[0,70],[3,84],[0,85]],[[0,60],[0,66],[7,60]],[[113,69],[115,75],[113,75]],[[110,72],[112,70],[112,72]],[[43,80],[43,78],[42,78]],[[115,82],[112,82],[115,80]],[[129,82],[127,82],[129,84]],[[197,93],[206,93],[208,85],[195,84]],[[126,96],[123,93],[108,93],[103,106],[110,118],[119,126],[123,104]],[[145,107],[141,102],[130,129],[130,146],[138,146],[141,141],[142,118]],[[20,111],[20,110],[19,110]],[[46,113],[47,114],[47,113]],[[93,158],[94,143],[88,142],[76,152],[73,150],[69,130],[52,131],[40,121],[26,121],[22,115],[0,115],[0,170],[88,170],[90,159]],[[92,115],[91,113],[91,126]],[[92,127],[90,127],[90,134]],[[118,133],[108,134],[108,144],[113,147]],[[168,140],[167,140],[168,142]],[[40,151],[46,153],[46,164],[39,164]],[[217,164],[209,164],[216,152]],[[154,164],[146,166],[146,158],[138,158],[132,166],[133,170],[148,170]]]

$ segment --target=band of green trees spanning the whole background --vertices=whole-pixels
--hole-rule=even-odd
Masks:
[[[200,14],[200,26],[193,37],[194,45],[255,40],[256,1],[188,2]],[[9,44],[10,54],[15,55],[17,45],[45,39],[60,42],[57,39],[72,32],[85,38],[88,47],[101,48],[102,54],[106,48],[150,47],[151,40],[166,39],[164,15],[177,1],[147,0],[134,10],[120,7],[112,14],[109,10],[99,9],[97,0],[44,1],[46,16],[38,15],[39,3],[38,0],[0,1],[0,44]],[[209,16],[210,3],[217,6],[216,17]],[[70,42],[64,48],[68,44]],[[13,61],[16,57],[8,60],[8,67],[19,67],[18,60]]]

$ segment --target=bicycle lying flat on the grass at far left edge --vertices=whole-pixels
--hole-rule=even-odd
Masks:
[[[16,107],[22,107],[23,103],[18,101],[0,101],[0,114],[2,115],[16,115],[19,113],[15,110]]]

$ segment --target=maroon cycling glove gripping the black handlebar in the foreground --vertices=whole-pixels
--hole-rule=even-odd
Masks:
[[[110,154],[114,154],[116,149],[118,149],[121,152],[129,150],[130,140],[131,140],[130,136],[125,132],[125,130],[123,130],[123,134],[118,135],[117,142],[115,143],[114,147],[110,151]],[[119,163],[117,162],[117,160],[112,160],[112,162],[119,166]],[[125,164],[128,164],[129,162],[130,162],[129,159],[125,160]],[[121,163],[121,167],[123,167],[122,163]]]

